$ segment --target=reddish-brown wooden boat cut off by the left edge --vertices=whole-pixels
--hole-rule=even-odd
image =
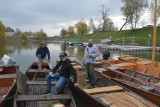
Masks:
[[[15,94],[18,68],[18,66],[0,67],[0,107],[6,107]]]

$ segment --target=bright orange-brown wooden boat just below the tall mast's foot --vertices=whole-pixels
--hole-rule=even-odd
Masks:
[[[130,62],[126,62],[124,60],[101,60],[101,62],[103,62],[106,66],[117,66],[120,68],[125,68],[128,70],[133,70],[136,72],[140,72],[142,74],[147,74],[147,75],[151,75],[155,78],[159,78],[160,79],[160,70],[158,67],[152,67],[149,65],[144,65],[144,64],[138,64],[138,63],[134,63],[132,61]]]

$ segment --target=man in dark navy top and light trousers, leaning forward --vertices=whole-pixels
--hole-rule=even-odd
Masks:
[[[36,51],[36,56],[38,58],[38,69],[41,69],[42,62],[47,62],[50,69],[52,69],[52,64],[50,61],[50,52],[45,42],[41,42],[40,47]]]

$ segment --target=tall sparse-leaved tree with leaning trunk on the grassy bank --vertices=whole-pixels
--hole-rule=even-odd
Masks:
[[[120,30],[122,30],[127,23],[134,29],[144,13],[145,8],[148,6],[147,0],[122,0],[122,2],[124,5],[121,7],[121,11],[125,22]]]

